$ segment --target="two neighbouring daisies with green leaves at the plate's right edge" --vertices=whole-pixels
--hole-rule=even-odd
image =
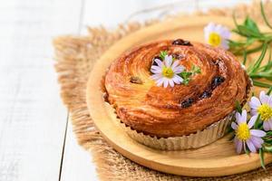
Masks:
[[[237,106],[234,130],[234,143],[237,153],[259,152],[261,166],[265,168],[264,152],[272,153],[272,87],[261,91],[258,98],[253,96],[248,102],[250,110]]]

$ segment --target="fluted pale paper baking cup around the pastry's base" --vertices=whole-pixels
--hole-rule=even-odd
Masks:
[[[194,134],[182,137],[157,138],[138,133],[130,127],[121,123],[121,128],[133,139],[141,144],[160,150],[180,150],[189,148],[200,148],[222,138],[229,128],[229,124],[234,113],[229,114],[225,119],[221,119],[210,125],[207,129],[199,130]],[[117,119],[118,120],[118,119]],[[120,120],[120,119],[119,119]]]

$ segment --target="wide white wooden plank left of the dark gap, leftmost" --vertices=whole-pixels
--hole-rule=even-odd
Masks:
[[[77,33],[78,0],[9,0],[0,6],[0,180],[58,180],[67,110],[52,38]]]

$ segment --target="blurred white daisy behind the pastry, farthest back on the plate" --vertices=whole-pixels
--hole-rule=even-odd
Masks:
[[[222,47],[228,50],[228,39],[230,38],[230,32],[226,26],[221,24],[209,23],[204,28],[204,36],[206,43],[214,47]]]

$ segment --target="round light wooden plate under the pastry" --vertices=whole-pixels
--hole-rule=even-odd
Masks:
[[[209,22],[233,26],[232,20],[224,17],[177,18],[131,33],[115,43],[97,61],[87,85],[88,108],[103,138],[124,157],[145,167],[182,176],[227,176],[260,167],[257,154],[237,155],[233,142],[229,141],[229,136],[209,146],[191,150],[161,151],[143,146],[131,139],[117,125],[114,110],[102,98],[102,76],[111,62],[122,52],[143,43],[164,39],[182,38],[203,42],[203,27]],[[265,155],[266,164],[271,161],[272,155]]]

